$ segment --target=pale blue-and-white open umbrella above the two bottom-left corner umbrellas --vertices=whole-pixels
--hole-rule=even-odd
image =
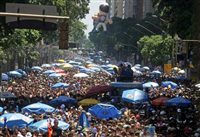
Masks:
[[[55,108],[40,102],[22,108],[23,113],[36,113],[36,114],[51,113],[54,110]]]

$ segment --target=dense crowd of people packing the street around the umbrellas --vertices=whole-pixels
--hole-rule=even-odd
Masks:
[[[44,68],[45,69],[45,68]],[[46,68],[47,69],[47,68]],[[49,68],[48,68],[49,69]],[[121,65],[118,69],[114,69],[113,76],[98,71],[90,73],[89,77],[76,78],[74,74],[79,72],[77,68],[71,68],[65,71],[65,75],[60,78],[51,79],[47,75],[38,71],[27,73],[26,77],[12,79],[3,85],[4,90],[12,92],[16,98],[1,99],[0,106],[4,108],[2,113],[21,112],[21,109],[29,104],[43,102],[48,104],[52,99],[61,95],[75,98],[80,101],[90,88],[97,85],[110,85],[112,79],[123,82],[142,82],[154,81],[161,83],[171,77],[163,75],[159,78],[152,78],[147,73],[145,75],[134,77],[131,65]],[[119,77],[121,76],[121,77]],[[114,78],[113,78],[114,77]],[[172,79],[173,80],[173,79]],[[67,88],[52,89],[52,85],[57,82],[69,84]],[[199,137],[200,121],[198,108],[198,92],[191,81],[178,81],[179,87],[172,89],[170,87],[144,89],[149,95],[149,102],[142,104],[133,104],[123,102],[122,100],[113,100],[109,93],[95,95],[96,98],[103,103],[115,105],[122,111],[122,116],[118,119],[98,119],[88,112],[90,106],[80,106],[78,104],[64,104],[57,106],[56,111],[51,114],[25,114],[37,122],[46,118],[53,118],[54,126],[52,126],[52,134],[49,132],[42,133],[39,131],[31,131],[28,127],[19,129],[9,129],[7,127],[0,128],[0,136],[6,137]],[[117,89],[116,89],[117,90]],[[167,107],[153,106],[152,100],[165,96],[176,97],[181,96],[192,101],[188,107]],[[89,128],[78,126],[79,116],[82,112],[86,112],[90,122]],[[67,130],[61,131],[56,125],[58,120],[65,121],[70,126]],[[148,127],[154,127],[153,135],[147,134]]]

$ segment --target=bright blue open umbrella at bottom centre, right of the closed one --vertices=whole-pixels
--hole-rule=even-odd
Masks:
[[[121,116],[121,111],[110,104],[99,103],[89,108],[89,112],[99,119],[106,120],[111,118],[119,118]]]

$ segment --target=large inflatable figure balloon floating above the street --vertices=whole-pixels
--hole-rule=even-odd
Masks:
[[[92,16],[94,29],[99,31],[101,27],[103,27],[104,31],[107,31],[106,24],[112,24],[112,20],[108,18],[109,13],[109,5],[107,3],[103,3],[99,6],[99,12]]]

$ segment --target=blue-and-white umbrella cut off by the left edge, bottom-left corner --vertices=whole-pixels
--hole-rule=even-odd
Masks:
[[[24,128],[33,122],[33,119],[20,113],[6,113],[0,116],[0,127],[7,126],[12,129],[14,127]]]

